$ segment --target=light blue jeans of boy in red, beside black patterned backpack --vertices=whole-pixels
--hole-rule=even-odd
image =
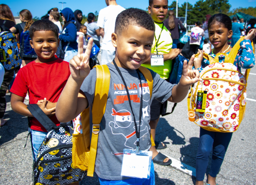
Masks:
[[[33,159],[34,159],[34,162],[36,162],[39,147],[41,146],[48,132],[35,131],[35,130],[31,130],[31,128],[28,128],[28,132],[30,132],[30,142],[31,142]]]

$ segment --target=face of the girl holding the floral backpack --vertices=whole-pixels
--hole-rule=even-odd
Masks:
[[[215,48],[223,47],[233,35],[222,23],[213,23],[209,28],[209,40]]]

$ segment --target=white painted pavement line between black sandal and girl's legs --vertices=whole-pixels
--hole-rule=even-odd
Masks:
[[[165,156],[172,160],[171,166],[173,168],[175,168],[176,170],[179,170],[179,171],[186,173],[187,175],[190,175],[190,176],[196,176],[196,169],[194,167],[191,167],[185,163],[181,163],[179,160],[169,157],[167,155],[165,155]]]

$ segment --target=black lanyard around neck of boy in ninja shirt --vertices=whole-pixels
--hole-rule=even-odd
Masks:
[[[121,76],[122,78],[122,81],[124,83],[124,86],[125,86],[125,90],[126,90],[126,93],[127,93],[127,97],[128,97],[128,100],[129,100],[129,104],[130,104],[130,107],[131,107],[131,110],[132,110],[132,103],[131,103],[131,98],[130,98],[130,94],[129,94],[129,91],[128,91],[128,88],[127,88],[127,85],[124,81],[124,77],[120,71],[120,69],[117,67],[116,65],[116,62],[115,62],[115,59],[113,59],[113,63],[116,67],[116,70],[118,71],[119,75]],[[141,123],[141,117],[142,117],[142,84],[141,84],[141,78],[140,78],[140,74],[139,74],[139,70],[137,69],[137,74],[139,76],[139,79],[140,79],[140,86],[141,86],[141,99],[140,99],[140,116],[139,116],[139,123]],[[139,152],[140,150],[140,125],[139,125],[139,131],[138,131],[138,127],[137,127],[137,123],[136,123],[136,120],[135,120],[135,116],[134,116],[134,113],[133,113],[133,110],[132,110],[132,115],[133,115],[133,120],[134,120],[134,125],[135,125],[135,132],[136,132],[136,136],[137,136],[137,147],[136,147],[136,152]]]

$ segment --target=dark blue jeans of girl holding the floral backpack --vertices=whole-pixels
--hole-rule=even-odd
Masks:
[[[203,181],[210,152],[212,152],[212,163],[210,175],[215,178],[220,170],[228,144],[232,138],[232,132],[211,132],[200,128],[199,146],[196,156],[196,180]]]

